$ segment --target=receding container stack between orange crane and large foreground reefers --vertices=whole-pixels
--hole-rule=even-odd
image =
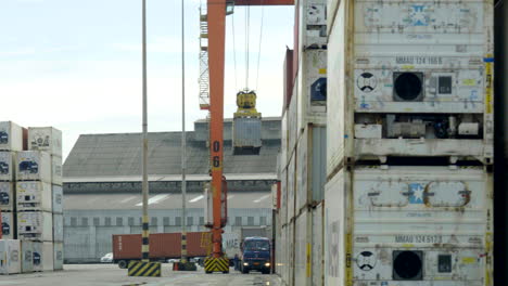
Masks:
[[[327,132],[325,0],[295,1],[295,49],[284,62],[276,271],[285,285],[322,285]]]

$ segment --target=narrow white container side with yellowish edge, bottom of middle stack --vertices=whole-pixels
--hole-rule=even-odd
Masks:
[[[306,210],[295,219],[294,223],[294,284],[295,286],[310,285],[312,275],[312,214]]]

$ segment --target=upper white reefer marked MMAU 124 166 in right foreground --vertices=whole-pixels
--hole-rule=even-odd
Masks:
[[[493,162],[492,11],[488,1],[340,2],[328,44],[328,176],[343,159]]]

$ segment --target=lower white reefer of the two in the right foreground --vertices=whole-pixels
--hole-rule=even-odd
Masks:
[[[326,187],[326,285],[491,286],[492,199],[482,167],[342,169]]]

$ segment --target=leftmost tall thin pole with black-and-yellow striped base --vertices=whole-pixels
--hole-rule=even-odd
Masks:
[[[143,232],[142,232],[142,261],[150,262],[149,252],[149,217],[148,217],[148,196],[149,196],[149,184],[148,184],[148,118],[147,118],[147,0],[143,0],[142,9],[142,68],[143,68],[143,161],[142,161],[142,192],[143,192]]]

